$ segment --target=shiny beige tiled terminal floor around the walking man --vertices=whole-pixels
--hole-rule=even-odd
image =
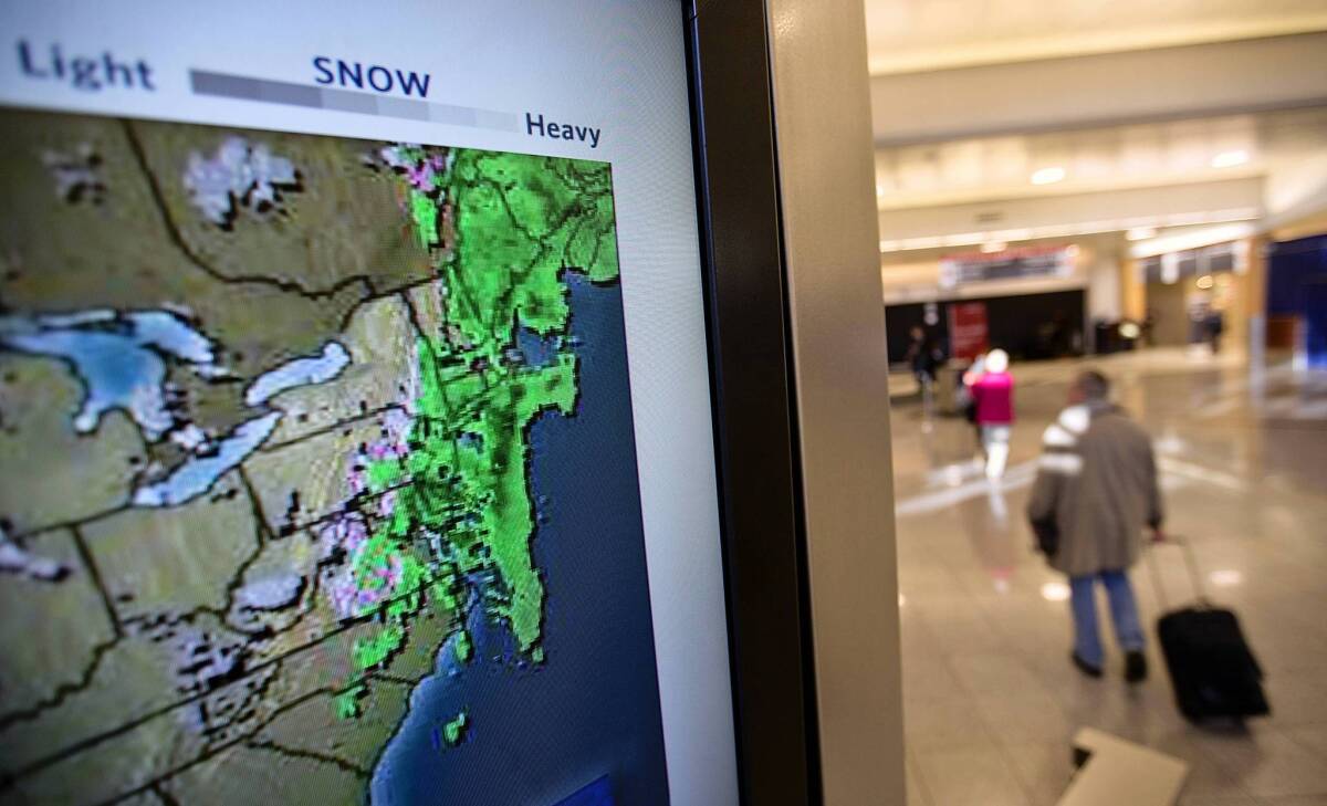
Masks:
[[[1101,680],[1070,665],[1067,589],[1032,553],[1023,508],[1042,428],[1082,363],[1015,365],[1019,420],[997,488],[971,464],[965,422],[925,428],[916,402],[893,404],[909,803],[1055,803],[1070,736],[1091,725],[1186,760],[1186,806],[1327,806],[1327,382],[1281,370],[1255,383],[1238,357],[1180,351],[1092,363],[1156,437],[1168,529],[1239,614],[1274,715],[1186,724],[1154,643],[1139,687],[1113,647]],[[1178,549],[1153,558],[1169,606],[1190,598]],[[1151,626],[1162,604],[1143,566],[1133,579]]]

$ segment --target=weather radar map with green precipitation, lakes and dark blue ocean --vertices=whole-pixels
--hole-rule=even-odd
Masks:
[[[610,166],[0,131],[0,803],[667,803]]]

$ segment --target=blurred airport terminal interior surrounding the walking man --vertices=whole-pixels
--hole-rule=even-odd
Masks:
[[[1060,802],[1082,728],[1185,761],[1185,805],[1327,803],[1327,4],[867,0],[867,25],[909,803]],[[991,349],[994,480],[963,416]],[[1104,597],[1104,675],[1070,663],[1026,509],[1088,367],[1152,437],[1165,533],[1238,614],[1270,716],[1176,709],[1173,545],[1131,574],[1147,681]]]

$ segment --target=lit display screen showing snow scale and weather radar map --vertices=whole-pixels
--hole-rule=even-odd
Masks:
[[[681,9],[365,13],[0,11],[0,801],[735,802]]]

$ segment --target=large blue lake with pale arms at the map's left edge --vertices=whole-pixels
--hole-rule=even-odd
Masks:
[[[162,355],[212,366],[211,342],[163,310],[3,317],[0,346],[69,362],[84,386],[82,408],[74,418],[80,433],[96,431],[102,414],[121,408],[147,439],[158,439],[171,427]]]

